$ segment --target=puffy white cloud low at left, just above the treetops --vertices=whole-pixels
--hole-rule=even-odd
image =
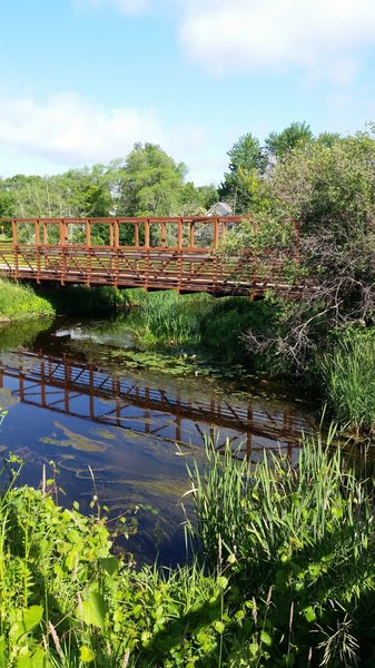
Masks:
[[[106,161],[126,155],[135,141],[161,138],[152,110],[105,109],[73,92],[46,104],[4,96],[0,105],[0,146],[63,165]]]

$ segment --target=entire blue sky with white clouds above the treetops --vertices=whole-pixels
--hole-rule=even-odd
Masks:
[[[374,0],[2,0],[0,177],[151,141],[218,184],[246,132],[375,120]]]

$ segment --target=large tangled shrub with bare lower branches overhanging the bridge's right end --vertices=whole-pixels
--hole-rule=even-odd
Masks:
[[[267,216],[240,226],[240,247],[275,248],[283,256],[293,244],[289,222],[300,224],[297,266],[286,263],[295,283],[306,283],[305,298],[275,301],[274,318],[261,333],[248,332],[256,354],[289,360],[305,369],[322,353],[333,331],[375,323],[375,139],[371,132],[333,141],[298,144],[263,179]],[[269,232],[272,234],[269,234]],[[228,239],[238,252],[238,244]],[[235,239],[238,242],[238,239]],[[230,245],[229,245],[230,250]]]

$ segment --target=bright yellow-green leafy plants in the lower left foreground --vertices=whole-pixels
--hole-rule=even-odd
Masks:
[[[111,554],[102,519],[56,505],[46,491],[52,479],[41,491],[17,489],[17,460],[6,466],[0,666],[171,668],[199,665],[211,651],[217,659],[225,578],[207,578],[196,564],[135,571]]]

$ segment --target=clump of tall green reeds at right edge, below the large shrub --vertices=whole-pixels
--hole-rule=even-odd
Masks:
[[[324,355],[322,374],[335,419],[375,432],[375,332],[349,330]]]

